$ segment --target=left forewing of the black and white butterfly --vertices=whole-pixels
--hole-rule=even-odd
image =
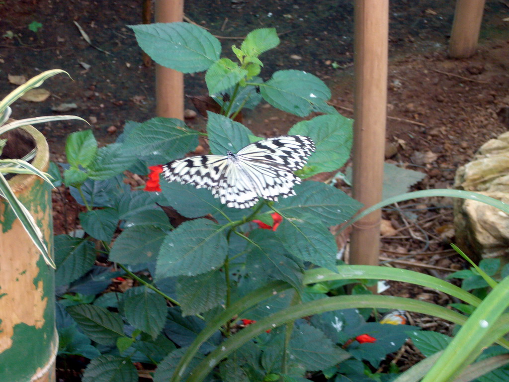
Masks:
[[[224,155],[200,155],[177,159],[163,165],[162,175],[168,182],[192,184],[196,188],[214,189],[224,177],[228,157]],[[217,196],[216,196],[217,197]]]

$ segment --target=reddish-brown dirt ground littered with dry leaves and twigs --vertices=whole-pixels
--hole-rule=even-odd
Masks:
[[[281,44],[261,57],[262,77],[268,79],[279,69],[313,73],[329,85],[331,102],[340,113],[352,117],[352,4],[347,0],[188,0],[185,14],[221,36],[223,52],[229,57],[230,46],[241,42],[234,37],[274,26]],[[18,101],[13,118],[58,114],[51,108],[76,103],[77,108],[66,114],[90,121],[98,140],[109,143],[122,132],[125,121],[154,117],[154,68],[143,65],[127,28],[141,22],[142,0],[6,0],[0,2],[0,12],[2,94],[15,87],[8,74],[28,78],[62,68],[73,78],[48,80],[44,88],[51,93],[49,98]],[[451,187],[458,167],[479,146],[509,128],[509,2],[487,1],[480,47],[465,60],[447,58],[453,14],[454,2],[448,0],[390,2],[386,157],[427,175],[414,189]],[[38,32],[28,27],[33,21],[42,24]],[[109,54],[84,41],[73,21]],[[206,94],[204,74],[186,75],[185,87],[188,95]],[[186,107],[193,110],[188,99]],[[267,137],[285,133],[298,121],[264,105],[244,115],[251,130]],[[186,122],[197,129],[205,125],[201,117]],[[63,160],[66,136],[88,127],[72,121],[38,128],[48,139],[53,159]],[[70,208],[64,219],[65,199],[55,194],[55,232],[59,233],[73,224],[79,212]],[[451,205],[450,200],[437,198],[386,210],[384,219],[397,233],[382,239],[381,260],[438,277],[462,268],[447,245],[454,241]],[[441,305],[450,302],[436,291],[404,285],[392,285],[386,293]],[[413,317],[425,328],[450,331],[445,323]],[[411,363],[412,350],[405,354],[402,358]]]

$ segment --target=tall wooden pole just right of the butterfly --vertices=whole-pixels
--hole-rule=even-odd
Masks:
[[[389,0],[356,0],[354,23],[353,197],[369,207],[382,198]],[[354,225],[352,264],[378,264],[380,217],[378,210]]]

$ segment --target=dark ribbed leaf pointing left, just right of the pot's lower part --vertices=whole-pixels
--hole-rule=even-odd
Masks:
[[[67,312],[92,341],[102,345],[116,345],[117,338],[124,336],[122,318],[118,313],[88,304],[67,308]]]

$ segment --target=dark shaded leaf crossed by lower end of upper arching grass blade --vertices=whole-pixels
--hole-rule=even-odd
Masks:
[[[194,316],[182,317],[179,308],[168,310],[168,319],[164,326],[164,334],[181,347],[188,346],[196,336],[205,328],[206,322]],[[221,333],[215,332],[202,344],[200,351],[208,353],[221,341]]]

